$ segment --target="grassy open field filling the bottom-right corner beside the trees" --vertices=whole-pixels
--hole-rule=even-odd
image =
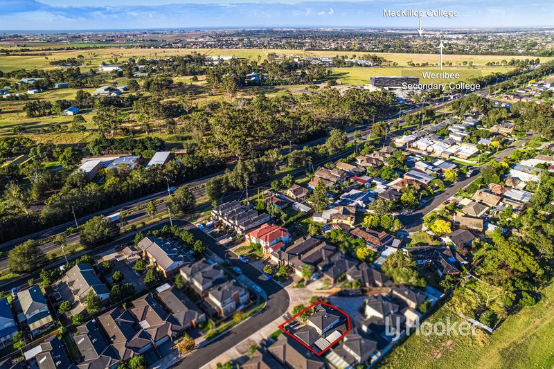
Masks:
[[[386,357],[383,368],[554,368],[554,285],[542,300],[524,307],[492,335],[411,336]],[[459,318],[445,305],[431,321]]]

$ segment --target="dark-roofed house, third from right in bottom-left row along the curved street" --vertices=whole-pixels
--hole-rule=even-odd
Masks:
[[[118,352],[121,361],[127,361],[152,348],[150,336],[127,309],[111,309],[98,316],[98,323]],[[145,326],[148,327],[146,324]]]

